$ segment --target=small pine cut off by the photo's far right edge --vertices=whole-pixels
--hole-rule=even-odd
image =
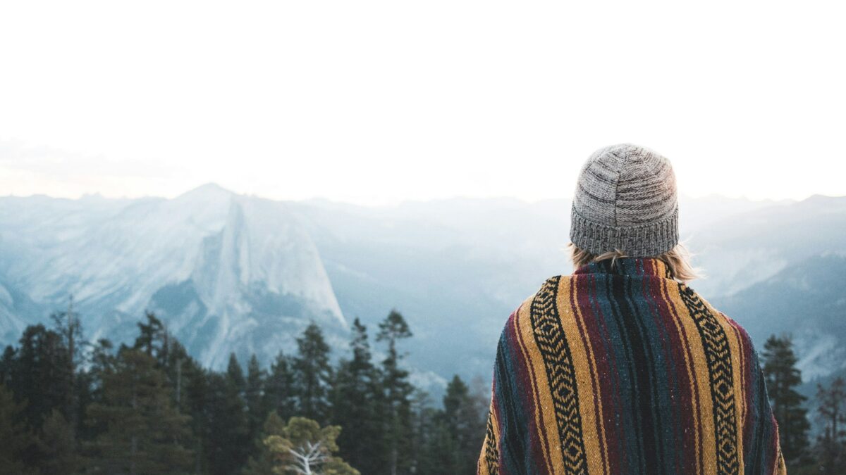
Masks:
[[[846,473],[846,380],[838,377],[828,388],[817,384],[816,401],[817,414],[823,423],[823,433],[816,446],[817,472]]]

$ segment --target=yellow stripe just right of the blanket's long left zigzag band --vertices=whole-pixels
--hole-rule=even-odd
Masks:
[[[580,336],[577,324],[578,305],[570,305],[570,292],[573,292],[574,302],[576,299],[576,287],[573,285],[575,279],[584,278],[579,276],[562,277],[558,287],[558,313],[561,319],[561,327],[564,336],[570,347],[570,354],[573,357],[573,366],[576,373],[576,385],[579,390],[579,413],[582,419],[582,438],[585,443],[585,456],[589,473],[602,473],[603,463],[607,467],[607,461],[602,458],[602,446],[605,445],[605,434],[596,431],[596,406],[594,405],[594,394],[592,379],[596,365],[593,364],[593,355],[590,348],[585,348]],[[585,338],[587,335],[585,335]],[[598,401],[598,398],[597,398]],[[602,401],[599,401],[599,413],[602,416]],[[602,427],[602,420],[599,421]],[[603,429],[604,432],[604,429]],[[607,446],[607,445],[606,445]]]

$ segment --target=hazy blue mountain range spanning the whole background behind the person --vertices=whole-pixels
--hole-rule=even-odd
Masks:
[[[73,294],[89,337],[129,339],[149,308],[219,369],[229,352],[267,364],[293,351],[311,319],[343,354],[349,320],[374,336],[397,308],[414,333],[403,349],[415,383],[437,395],[453,374],[490,379],[508,314],[547,277],[572,271],[569,206],[454,198],[369,207],[216,185],[175,199],[0,198],[0,342]],[[750,329],[757,347],[793,331],[805,374],[835,370],[846,329],[826,302],[844,288],[846,198],[682,196],[679,208],[681,237],[707,274],[691,287]],[[820,279],[810,298],[800,284]]]

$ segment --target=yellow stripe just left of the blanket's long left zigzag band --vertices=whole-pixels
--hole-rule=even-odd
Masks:
[[[552,407],[552,394],[549,390],[547,371],[544,368],[543,358],[541,358],[541,352],[535,343],[535,335],[531,327],[531,301],[534,298],[535,296],[531,296],[520,305],[517,318],[514,319],[514,331],[519,334],[519,338],[522,340],[519,349],[523,354],[526,368],[530,369],[530,377],[535,380],[532,397],[534,397],[536,407],[543,409],[543,420],[541,420],[541,411],[534,411],[535,425],[538,430],[537,437],[541,440],[541,444],[546,444],[541,450],[543,460],[547,464],[549,473],[555,473],[553,467],[563,467],[564,461],[561,455],[561,440],[558,437],[558,423],[555,420],[555,409]],[[543,434],[543,429],[546,429],[546,437]],[[552,460],[547,456],[547,452],[549,452]]]

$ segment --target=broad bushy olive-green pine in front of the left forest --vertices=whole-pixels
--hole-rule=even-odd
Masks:
[[[102,402],[88,407],[105,427],[86,445],[92,472],[179,473],[191,467],[190,417],[171,403],[162,371],[146,352],[121,347],[103,379]]]

